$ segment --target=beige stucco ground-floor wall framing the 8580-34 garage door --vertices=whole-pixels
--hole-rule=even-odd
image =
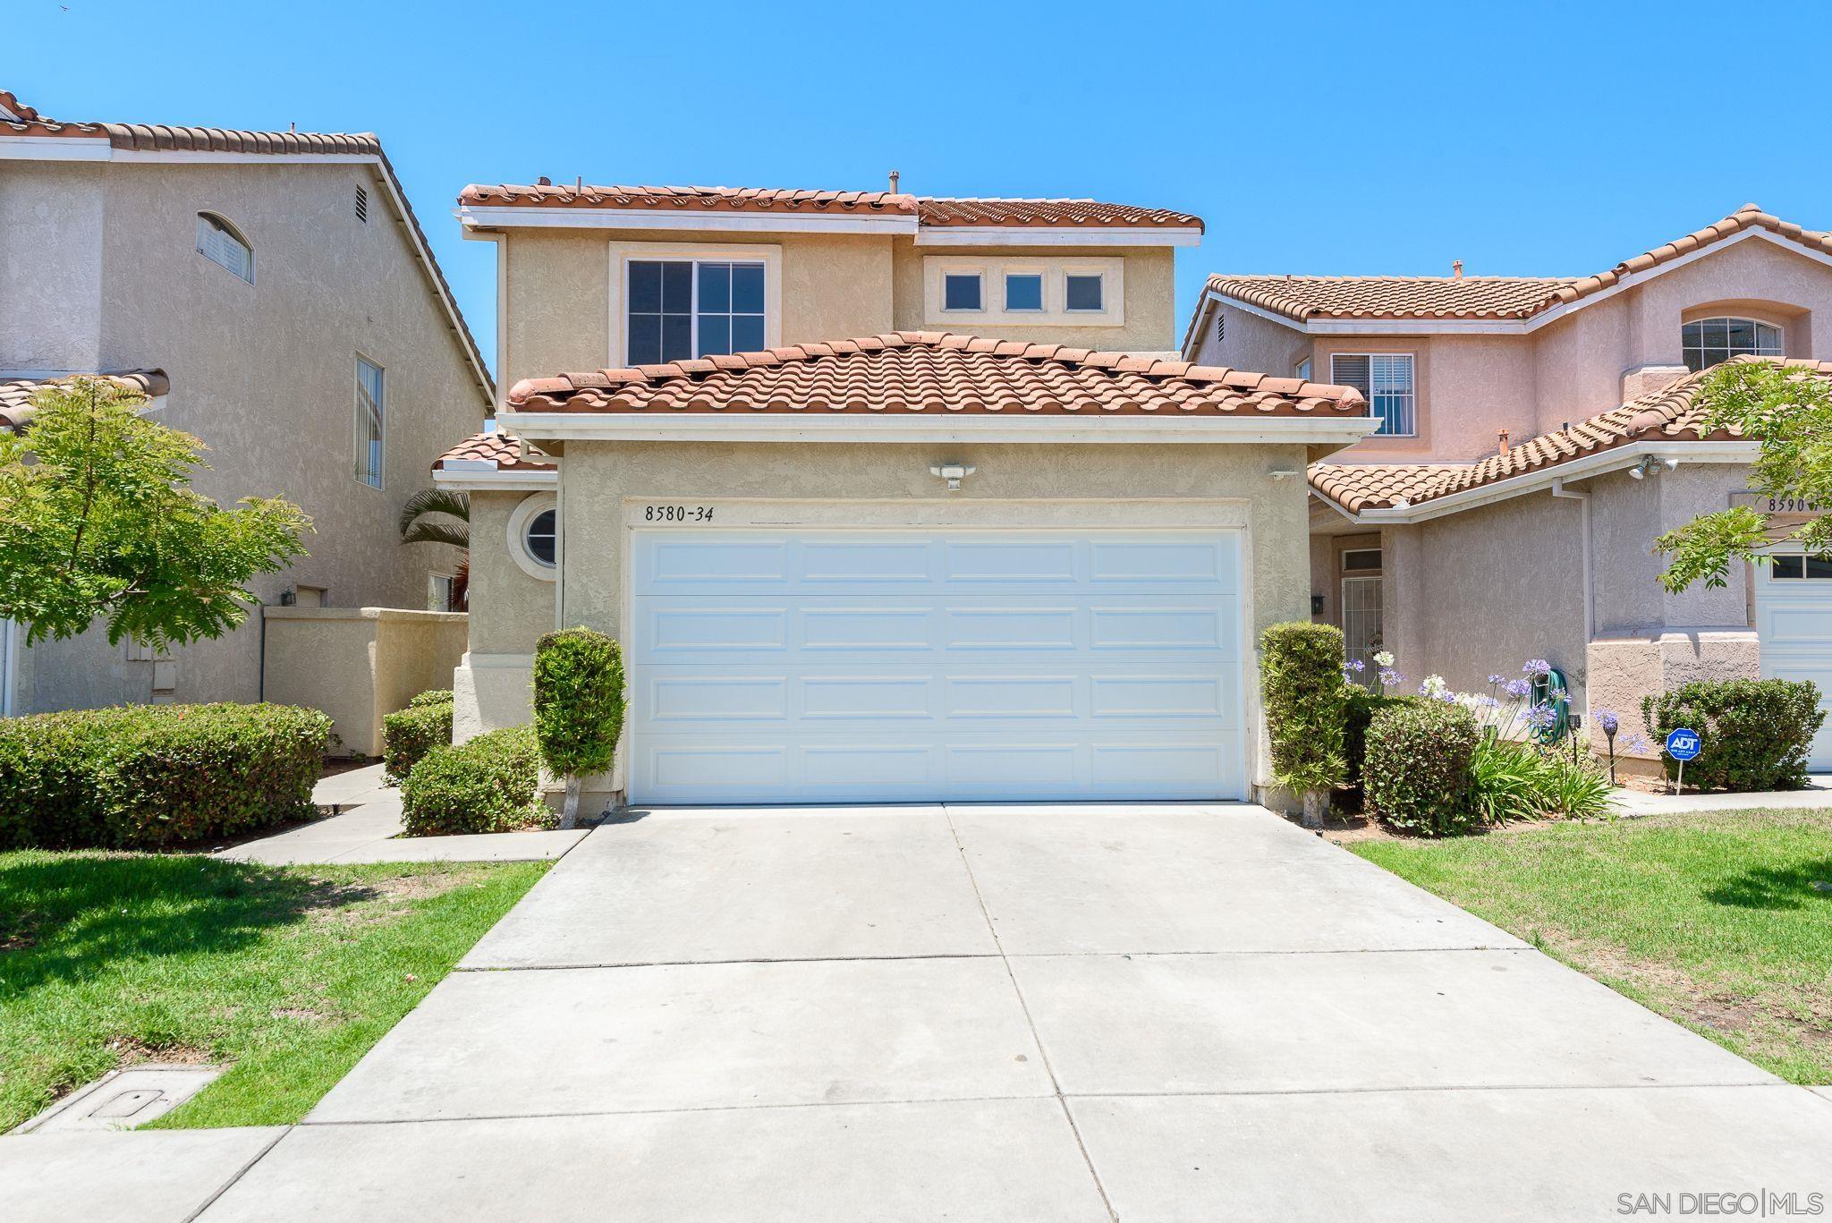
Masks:
[[[958,493],[942,493],[929,464],[973,464],[978,471]],[[562,607],[561,622],[603,633],[623,631],[623,506],[645,499],[682,501],[755,499],[762,502],[819,502],[845,519],[846,504],[889,502],[892,521],[914,521],[925,506],[986,506],[1026,502],[1042,506],[1055,524],[1110,526],[1116,502],[1147,506],[1165,521],[1180,521],[1176,501],[1224,499],[1246,524],[1248,616],[1257,636],[1281,620],[1310,616],[1308,504],[1295,480],[1273,480],[1268,471],[1303,462],[1297,446],[921,446],[921,444],[663,444],[570,442],[562,460]],[[504,495],[506,497],[506,495]],[[909,515],[896,512],[898,506]],[[487,513],[507,515],[489,508]],[[982,519],[984,521],[984,519]],[[504,614],[511,574],[507,539],[498,530],[473,537],[473,633],[467,667],[460,667],[460,724],[476,730],[526,721],[526,655],[511,647],[531,642],[513,620],[535,612],[533,603]],[[500,611],[484,611],[491,583],[502,581]],[[551,612],[550,612],[551,614]],[[1259,726],[1255,660],[1244,662],[1251,724]],[[463,733],[463,732],[460,732]],[[1249,735],[1249,741],[1257,735]],[[1259,752],[1255,752],[1259,759]]]

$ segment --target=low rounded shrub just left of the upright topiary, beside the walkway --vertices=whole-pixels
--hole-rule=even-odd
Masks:
[[[540,827],[551,816],[539,794],[535,732],[509,726],[427,752],[401,783],[401,823],[407,836]]]

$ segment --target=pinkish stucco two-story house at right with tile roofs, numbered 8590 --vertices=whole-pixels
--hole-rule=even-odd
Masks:
[[[1832,235],[1751,204],[1590,277],[1216,275],[1183,356],[1372,400],[1379,433],[1310,468],[1314,612],[1352,656],[1466,691],[1546,658],[1623,735],[1689,678],[1832,693],[1832,568],[1667,594],[1652,550],[1748,497],[1755,444],[1700,435],[1696,370],[1832,358]]]

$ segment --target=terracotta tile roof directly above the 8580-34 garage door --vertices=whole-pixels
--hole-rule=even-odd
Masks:
[[[509,389],[524,413],[1367,414],[1352,387],[1063,345],[892,332]]]

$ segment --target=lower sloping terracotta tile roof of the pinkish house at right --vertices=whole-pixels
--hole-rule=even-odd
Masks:
[[[1790,361],[1784,358],[1735,358],[1805,365],[1819,378],[1832,380],[1832,361]],[[1570,429],[1528,438],[1502,455],[1473,464],[1328,464],[1310,466],[1310,486],[1348,513],[1387,510],[1400,501],[1422,504],[1517,475],[1543,471],[1585,455],[1629,446],[1630,442],[1720,442],[1735,433],[1704,431],[1704,409],[1696,403],[1698,385],[1709,370],[1687,374],[1665,391],[1645,394]]]

